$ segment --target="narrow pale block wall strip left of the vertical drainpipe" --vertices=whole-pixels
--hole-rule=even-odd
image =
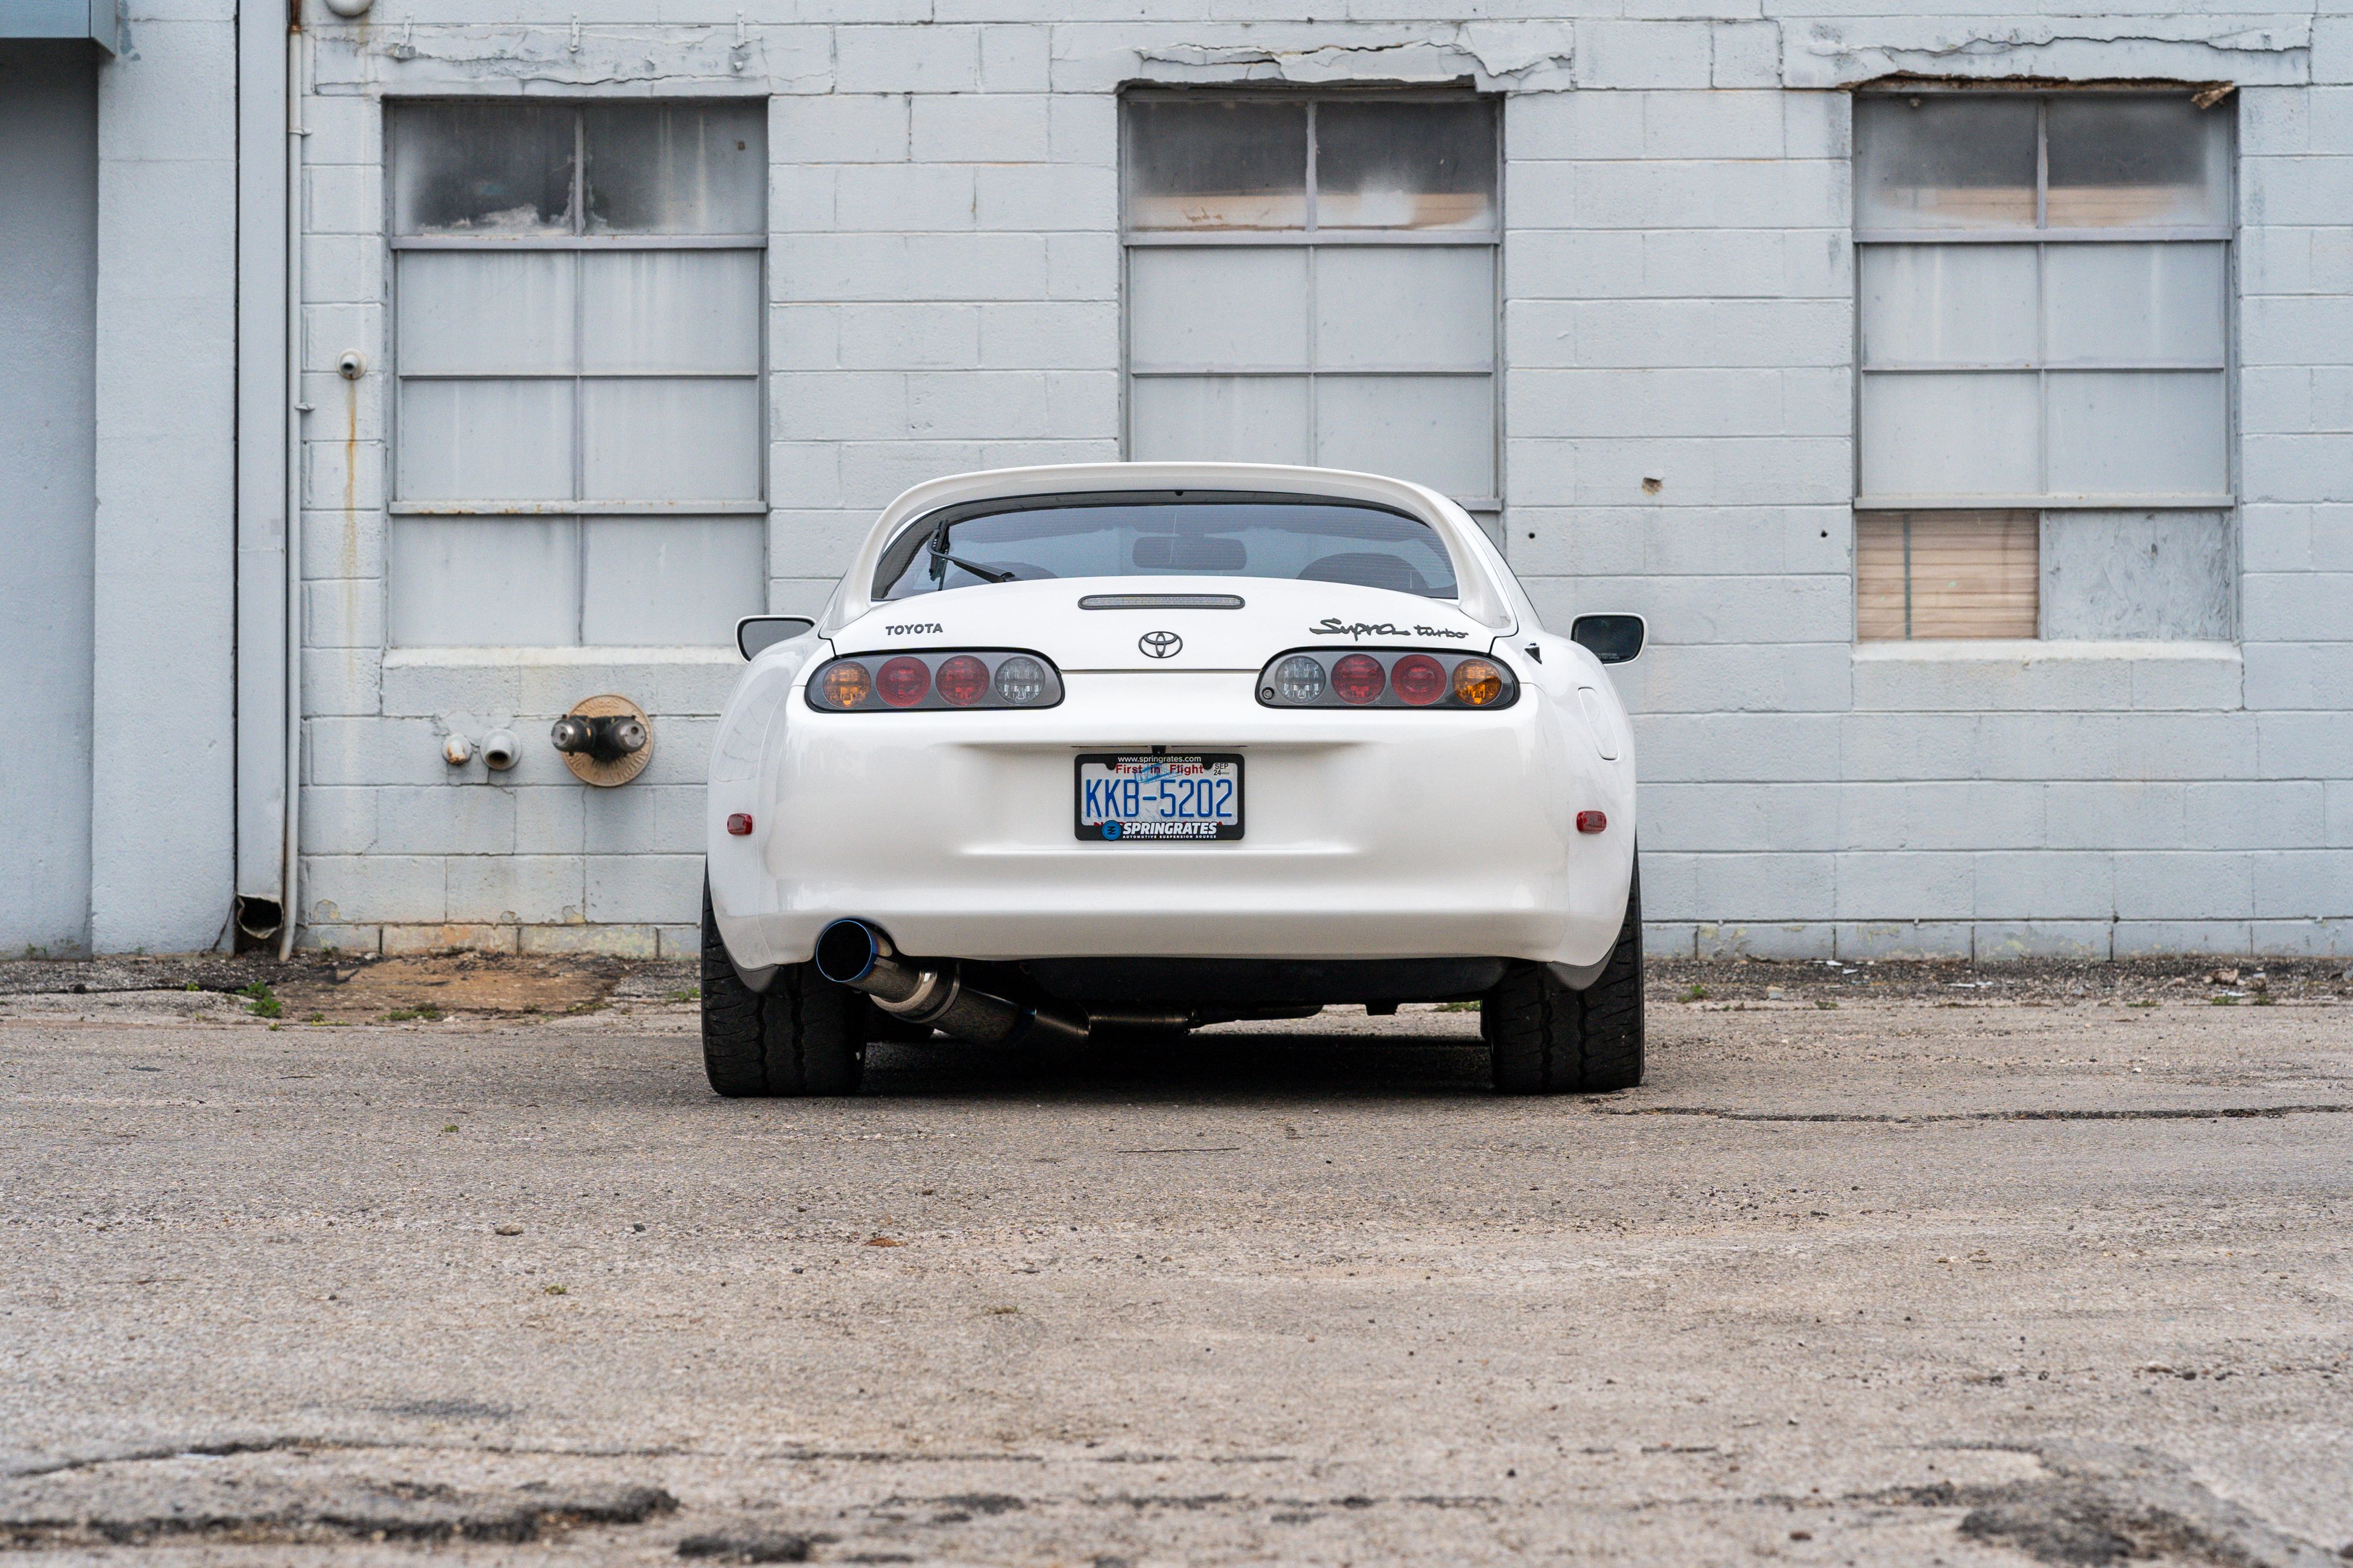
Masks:
[[[99,63],[89,947],[228,940],[233,0],[129,0]]]

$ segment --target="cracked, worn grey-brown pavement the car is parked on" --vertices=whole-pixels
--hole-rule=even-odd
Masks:
[[[1600,1100],[1428,1009],[725,1103],[675,976],[0,997],[0,1549],[2341,1568],[2337,976],[1682,969]]]

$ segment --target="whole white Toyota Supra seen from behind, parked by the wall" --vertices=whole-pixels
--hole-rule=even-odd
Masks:
[[[1544,630],[1480,527],[1320,468],[918,484],[711,757],[704,1063],[1478,1001],[1504,1091],[1642,1079],[1635,616]]]

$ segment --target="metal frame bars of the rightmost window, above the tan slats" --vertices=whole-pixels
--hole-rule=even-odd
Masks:
[[[2224,158],[2228,188],[2224,190],[2226,223],[2212,226],[2118,226],[2118,228],[2047,228],[2042,223],[2049,207],[2049,106],[2054,99],[2118,96],[2118,99],[2191,99],[2191,89],[2169,92],[2146,85],[2115,87],[2066,87],[2066,89],[2005,89],[1986,85],[1908,82],[1857,92],[1854,103],[1866,99],[1922,99],[1922,96],[1979,96],[2017,99],[2035,103],[2035,226],[2033,228],[1864,228],[1852,223],[1854,261],[1854,463],[1852,463],[1852,510],[1857,512],[2238,512],[2240,491],[2240,430],[2238,430],[2238,120],[2231,120],[2231,146]],[[1849,190],[1859,169],[1859,141],[1849,139]],[[1859,195],[1859,193],[1857,193]],[[1857,202],[1859,205],[1859,202]],[[1864,364],[1864,247],[1927,247],[1927,244],[2033,244],[2035,249],[2035,364],[2033,367],[1955,367],[1955,364]],[[2049,494],[2049,247],[2052,244],[2221,244],[2221,360],[2207,362],[2068,362],[2059,367],[2075,371],[2217,371],[2224,381],[2224,489],[2212,494],[2113,494],[2113,496],[2061,496]],[[2045,482],[2040,494],[1901,494],[1873,496],[1864,491],[1864,386],[1871,374],[2026,374],[2035,376],[2035,473]]]

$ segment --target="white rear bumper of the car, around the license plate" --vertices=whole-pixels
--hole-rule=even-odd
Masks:
[[[1633,863],[1631,776],[1539,691],[1501,712],[1278,712],[1249,672],[1073,672],[1047,712],[819,715],[711,785],[711,886],[736,964],[809,957],[854,914],[960,959],[1522,957],[1593,964]],[[1242,755],[1242,837],[1073,830],[1082,750]],[[1579,835],[1579,809],[1609,830]],[[748,811],[753,837],[727,837]]]

